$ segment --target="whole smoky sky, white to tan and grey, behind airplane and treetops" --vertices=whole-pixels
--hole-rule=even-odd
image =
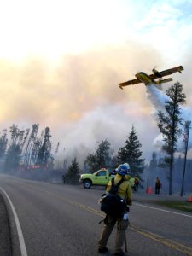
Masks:
[[[122,147],[135,125],[150,158],[160,91],[118,84],[183,65],[172,79],[192,119],[191,10],[190,0],[0,0],[1,131],[49,126],[60,154],[79,157],[106,138]]]

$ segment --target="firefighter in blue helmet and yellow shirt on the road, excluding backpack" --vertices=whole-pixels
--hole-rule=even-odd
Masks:
[[[128,214],[129,206],[131,205],[131,183],[129,179],[131,178],[128,174],[130,172],[130,166],[129,164],[125,163],[123,165],[120,165],[117,170],[117,174],[114,177],[114,184],[116,185],[119,183],[119,181],[123,178],[123,182],[120,183],[117,195],[120,196],[120,198],[125,202],[125,212],[122,212],[118,217],[113,217],[110,215],[107,215],[104,220],[104,227],[102,230],[101,237],[98,242],[98,252],[99,253],[107,253],[108,247],[107,242],[108,238],[111,235],[114,225],[117,223],[117,234],[115,238],[115,246],[114,246],[114,255],[125,255],[123,252],[123,245],[125,242],[125,231],[128,227],[129,220],[128,220]],[[110,191],[112,186],[112,181],[109,181],[108,187],[107,187],[107,193]]]

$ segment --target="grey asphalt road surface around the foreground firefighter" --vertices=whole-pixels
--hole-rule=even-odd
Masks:
[[[13,255],[100,255],[97,241],[102,224],[98,223],[104,214],[98,199],[103,192],[102,188],[84,189],[80,185],[0,175]],[[192,255],[192,214],[154,206],[147,196],[133,194],[125,255]],[[114,237],[115,230],[106,255],[113,253]]]

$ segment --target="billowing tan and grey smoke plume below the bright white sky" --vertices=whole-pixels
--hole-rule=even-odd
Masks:
[[[159,132],[155,112],[163,105],[165,94],[148,87],[148,101],[143,84],[124,90],[118,84],[134,79],[138,71],[150,73],[154,63],[161,62],[157,50],[131,41],[116,48],[63,55],[57,63],[35,57],[19,64],[2,60],[1,131],[14,123],[20,129],[32,124],[49,126],[53,148],[60,142],[57,155],[61,160],[70,155],[83,161],[87,152],[95,150],[96,142],[104,139],[117,152],[135,125],[143,158],[150,160]],[[186,84],[189,98],[188,79]]]

